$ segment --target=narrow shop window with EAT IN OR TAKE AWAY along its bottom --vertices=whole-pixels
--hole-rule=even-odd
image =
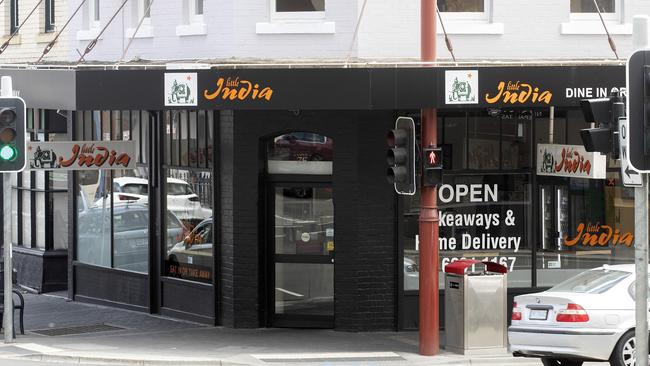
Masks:
[[[213,113],[168,111],[164,128],[164,275],[212,283],[217,238],[213,218]]]

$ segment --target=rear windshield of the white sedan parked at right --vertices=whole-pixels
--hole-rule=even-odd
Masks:
[[[549,291],[602,294],[629,275],[629,272],[596,269],[571,277],[553,286]]]

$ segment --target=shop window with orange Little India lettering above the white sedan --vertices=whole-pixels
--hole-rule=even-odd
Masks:
[[[538,141],[582,145],[580,110],[555,110],[552,117],[537,121]],[[606,179],[538,177],[537,286],[553,286],[602,264],[634,261],[634,189],[623,187],[620,168],[612,163]]]

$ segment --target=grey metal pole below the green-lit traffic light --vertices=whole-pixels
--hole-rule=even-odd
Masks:
[[[13,299],[11,276],[11,174],[2,174],[2,215],[4,229],[4,311],[2,312],[2,326],[4,329],[5,343],[13,342]]]

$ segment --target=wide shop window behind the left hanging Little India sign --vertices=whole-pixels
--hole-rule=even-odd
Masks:
[[[148,135],[141,111],[84,111],[75,114],[77,140],[136,140],[136,168],[78,171],[76,260],[146,273],[149,266]]]

